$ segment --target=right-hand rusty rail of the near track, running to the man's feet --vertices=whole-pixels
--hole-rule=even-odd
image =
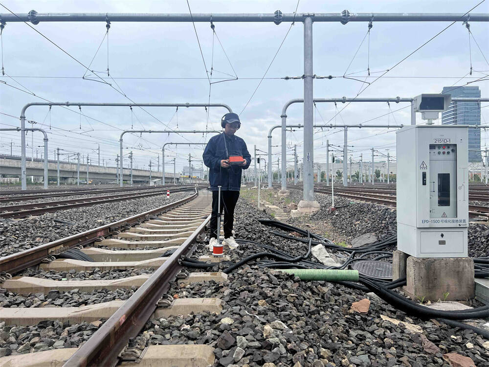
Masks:
[[[129,338],[135,337],[155,312],[157,301],[181,270],[180,258],[194,250],[197,237],[209,221],[210,215],[63,366],[114,366]]]

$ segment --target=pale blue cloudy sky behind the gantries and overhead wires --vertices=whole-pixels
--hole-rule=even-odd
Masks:
[[[351,13],[443,11],[464,14],[479,2],[189,0],[189,5],[193,14],[273,13],[275,10],[293,13],[297,4],[298,13],[340,13],[348,9]],[[31,9],[38,13],[189,12],[187,1],[0,0],[0,4],[0,14],[8,13],[5,7],[21,14]],[[489,1],[483,2],[472,13],[489,13]],[[439,93],[443,87],[465,85],[487,75],[489,24],[481,22],[469,22],[470,37],[462,22],[451,25],[396,65],[449,24],[376,23],[374,19],[370,35],[367,36],[368,22],[346,25],[314,23],[313,73],[333,76],[333,79],[314,79],[314,98],[355,97],[367,86],[360,97],[407,98],[421,93]],[[64,154],[62,158],[73,159],[73,155],[79,152],[82,157],[89,155],[90,160],[97,163],[100,146],[101,164],[103,161],[113,166],[123,130],[219,130],[220,118],[226,110],[221,107],[211,107],[208,111],[201,107],[180,107],[178,111],[174,107],[134,107],[132,110],[129,107],[82,107],[80,110],[76,102],[210,101],[229,105],[238,113],[242,127],[237,135],[244,138],[250,152],[256,144],[259,153],[265,154],[268,130],[280,124],[282,107],[290,99],[303,97],[302,79],[283,79],[304,74],[303,24],[296,22],[292,27],[290,23],[214,25],[215,34],[209,23],[195,23],[194,29],[192,23],[112,22],[107,42],[106,23],[103,22],[41,22],[32,27],[25,23],[7,23],[2,33],[1,54],[5,75],[0,75],[0,127],[20,126],[18,116],[26,103],[70,101],[74,106],[53,106],[50,110],[47,106],[36,106],[27,110],[26,119],[35,121],[35,127],[43,128],[48,133],[49,158],[54,159],[55,149],[60,148]],[[469,74],[471,65],[472,75]],[[97,75],[86,67],[95,70]],[[108,68],[110,77],[107,75]],[[209,88],[209,73],[206,70],[210,72],[211,68],[212,81],[219,83],[213,83]],[[365,78],[368,76],[367,68],[371,74]],[[387,69],[389,71],[376,80]],[[84,75],[86,79],[82,78]],[[264,75],[265,78],[261,80]],[[372,85],[363,82],[374,80]],[[489,96],[487,79],[469,85],[479,86],[482,96]],[[345,106],[341,103],[336,106],[317,103],[314,109],[315,124],[410,123],[408,103],[352,103]],[[481,133],[483,148],[489,145],[487,106],[489,103],[481,104],[482,126],[487,127]],[[302,104],[290,106],[287,115],[288,124],[303,124]],[[418,121],[422,122],[419,115]],[[389,152],[395,158],[395,130],[350,129],[349,156],[356,161],[363,154],[364,160],[367,160],[365,157],[370,157],[370,149],[374,147],[378,151],[376,155]],[[274,164],[280,153],[279,133],[279,129],[273,133]],[[151,160],[156,170],[164,143],[205,142],[212,135],[126,134],[123,143],[124,166],[128,164],[129,152],[133,151],[135,167],[147,168]],[[333,148],[342,149],[343,130],[315,130],[315,161],[325,161],[327,139]],[[31,133],[26,141],[27,156],[30,157]],[[302,129],[287,133],[290,153],[296,144],[299,161],[303,156],[302,141]],[[0,153],[10,153],[11,145],[13,154],[20,155],[20,133],[0,132]],[[42,134],[35,133],[33,146],[39,150],[39,157],[43,151],[42,145]],[[170,161],[176,157],[177,171],[181,170],[183,165],[188,164],[189,153],[193,164],[200,166],[202,151],[203,146],[199,145],[169,145],[165,152],[165,169],[173,170]],[[292,156],[288,157],[290,163],[292,160]]]

